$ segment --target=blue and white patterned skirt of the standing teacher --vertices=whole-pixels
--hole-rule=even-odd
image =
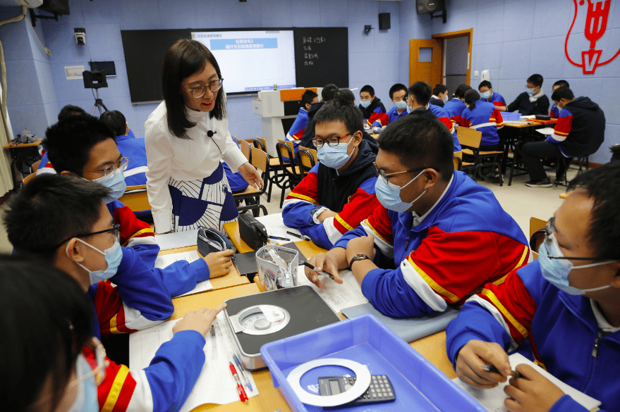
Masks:
[[[221,231],[224,223],[237,220],[239,213],[224,168],[217,169],[202,180],[168,182],[172,199],[172,230],[196,230],[200,226]]]

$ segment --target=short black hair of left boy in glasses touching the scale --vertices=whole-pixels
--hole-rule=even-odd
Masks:
[[[8,200],[3,217],[8,240],[20,255],[54,261],[63,239],[92,232],[109,194],[104,185],[73,175],[35,176]]]

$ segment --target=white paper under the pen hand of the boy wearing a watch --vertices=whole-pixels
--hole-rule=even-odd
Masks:
[[[342,285],[329,279],[329,277],[322,276],[321,282],[323,283],[323,287],[317,287],[305,276],[303,268],[305,268],[305,266],[299,266],[298,268],[298,284],[300,286],[309,285],[312,289],[315,289],[334,311],[340,312],[344,308],[367,303],[368,299],[362,294],[362,288],[358,281],[355,280],[355,276],[351,270],[340,271],[340,277],[343,280]]]

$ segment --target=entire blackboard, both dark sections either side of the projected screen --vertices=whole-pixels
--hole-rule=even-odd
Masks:
[[[162,101],[164,55],[178,39],[189,39],[191,32],[291,29],[297,86],[323,87],[334,83],[348,87],[347,27],[121,30],[131,103]]]

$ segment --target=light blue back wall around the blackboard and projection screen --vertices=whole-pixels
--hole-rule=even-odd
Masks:
[[[362,87],[370,84],[387,108],[392,106],[388,90],[396,82],[408,82],[408,42],[403,44],[401,25],[408,27],[407,35],[415,32],[415,21],[403,24],[401,4],[407,5],[408,20],[417,20],[415,1],[361,1],[361,0],[251,0],[240,3],[235,0],[70,0],[71,15],[61,16],[59,21],[48,20],[42,26],[44,41],[53,56],[43,56],[48,64],[51,82],[46,96],[54,96],[53,118],[58,108],[75,104],[90,113],[95,103],[90,89],[84,89],[80,80],[66,80],[64,66],[84,65],[89,61],[114,61],[116,77],[108,78],[109,87],[100,89],[104,104],[110,110],[123,112],[137,137],[144,137],[144,122],[157,104],[132,105],[130,103],[127,73],[124,62],[121,30],[178,29],[186,27],[348,27],[349,86]],[[379,31],[379,13],[391,13],[391,29]],[[413,14],[411,14],[413,12]],[[364,35],[364,25],[375,27],[370,35]],[[85,27],[86,46],[77,46],[73,28]],[[412,32],[413,30],[413,32]],[[428,25],[426,34],[430,34]],[[0,39],[4,40],[5,37]],[[6,44],[6,42],[5,42]],[[148,45],[145,44],[145,47]],[[5,46],[6,47],[6,46]],[[28,70],[33,71],[32,58]],[[23,63],[26,64],[26,63]],[[27,82],[13,77],[13,87]],[[50,86],[51,85],[51,86]],[[323,86],[323,85],[317,85]],[[355,93],[359,96],[359,93]],[[22,101],[16,99],[16,101]],[[27,99],[23,101],[28,101]],[[30,101],[29,101],[30,102]],[[42,104],[41,101],[28,103]],[[260,117],[253,115],[251,96],[231,96],[228,99],[229,129],[233,135],[249,138],[262,135]],[[21,130],[23,121],[11,113],[13,129]],[[41,118],[41,116],[39,116]],[[42,135],[44,125],[30,126]]]

